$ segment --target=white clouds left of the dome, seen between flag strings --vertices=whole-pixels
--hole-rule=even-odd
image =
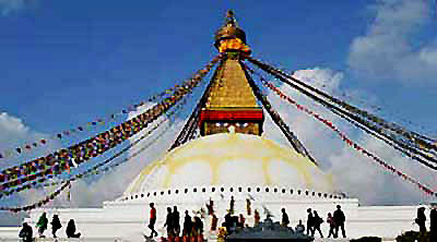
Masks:
[[[142,107],[139,107],[137,111],[129,113],[129,119],[142,113],[153,105],[155,104],[146,104]],[[102,207],[104,201],[111,201],[121,196],[130,182],[133,181],[135,176],[149,162],[156,160],[166,153],[175,136],[181,130],[184,123],[184,120],[180,119],[176,119],[172,126],[168,126],[169,123],[165,122],[157,130],[155,130],[150,137],[144,138],[137,146],[131,148],[127,153],[127,156],[138,152],[141,147],[147,145],[156,135],[161,135],[165,129],[169,128],[155,143],[153,143],[152,146],[145,149],[142,154],[130,159],[125,165],[105,172],[103,176],[91,177],[88,179],[81,179],[73,182],[71,189],[71,201],[68,201],[68,190],[66,190],[55,201],[50,202],[48,207]],[[151,124],[149,128],[152,126],[154,126],[154,124]],[[143,130],[139,134],[134,135],[130,138],[130,141],[135,141],[142,136],[146,130]],[[4,112],[0,113],[0,144],[4,144],[7,142],[9,144],[8,147],[15,147],[16,145],[22,145],[24,141],[33,141],[32,138],[47,136],[33,131],[26,126],[21,119]],[[57,147],[59,147],[59,144],[55,143],[54,145],[48,145],[46,149],[39,152],[47,153],[47,150],[52,150]],[[22,156],[20,157],[22,158]],[[125,157],[126,156],[121,156],[113,162],[118,162]],[[4,164],[0,164],[0,167],[4,168],[5,166]],[[0,205],[12,207],[29,205],[40,201],[58,187],[59,185],[54,187],[24,191],[17,195],[8,197],[7,199],[0,199]],[[11,215],[10,213],[0,211],[0,226],[17,225],[24,216],[24,214]]]

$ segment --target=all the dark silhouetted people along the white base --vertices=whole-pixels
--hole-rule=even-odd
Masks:
[[[209,201],[208,204],[205,204],[206,209],[208,209],[208,215],[211,216],[211,231],[215,231],[217,229],[217,217],[214,213],[214,202],[212,199]],[[151,235],[150,238],[157,237],[158,233],[155,230],[155,223],[156,223],[156,208],[154,206],[154,203],[150,204],[150,223],[149,228],[151,230]],[[246,201],[246,210],[247,215],[251,216],[253,214],[253,226],[257,226],[260,223],[260,214],[257,209],[251,210],[251,202],[250,199]],[[290,218],[288,215],[285,210],[285,208],[281,209],[282,211],[282,219],[281,219],[281,225],[283,227],[290,226]],[[235,213],[235,199],[234,197],[231,197],[231,203],[229,203],[229,209],[227,210],[227,214],[224,217],[224,222],[222,226],[226,228],[227,233],[232,233],[235,229],[237,228],[243,228],[246,225],[246,218],[243,214],[239,214],[239,216],[234,216]],[[317,210],[312,210],[311,208],[307,209],[308,217],[307,217],[307,227],[303,225],[303,221],[299,220],[298,225],[295,227],[295,232],[297,233],[305,233],[310,237],[315,237],[315,233],[318,232],[320,238],[323,238],[323,233],[320,229],[320,226],[324,222],[323,218],[321,218]],[[269,216],[269,215],[268,215]],[[194,216],[191,217],[189,215],[188,210],[185,210],[185,218],[184,218],[184,223],[182,223],[182,230],[180,229],[180,215],[178,211],[177,206],[174,206],[173,209],[172,207],[167,207],[167,216],[165,219],[164,227],[167,230],[167,237],[179,237],[179,235],[187,235],[187,237],[202,237],[203,233],[203,222],[202,218],[205,217],[205,210],[201,208],[198,213],[194,213]],[[430,241],[437,241],[437,206],[434,206],[430,210],[429,214],[429,219],[430,219]],[[343,238],[346,238],[346,232],[344,228],[346,217],[344,213],[341,209],[340,205],[336,205],[336,209],[331,214],[328,213],[327,216],[327,222],[329,225],[329,233],[328,238],[338,238],[339,232],[341,230]],[[420,207],[417,209],[417,217],[414,219],[414,222],[417,223],[420,228],[420,232],[424,233],[426,232],[426,215],[425,215],[425,207]],[[51,219],[51,234],[52,238],[57,238],[57,231],[62,228],[62,225],[60,222],[59,216],[54,215]],[[39,238],[45,238],[44,232],[48,228],[48,218],[47,214],[43,213],[42,216],[39,217],[36,226],[38,229],[38,234]],[[181,232],[181,234],[180,234]],[[70,219],[67,229],[66,229],[66,234],[68,238],[80,238],[81,233],[76,232],[75,223],[73,219]],[[32,227],[27,223],[23,223],[23,228],[19,233],[19,237],[23,240],[23,242],[31,242],[33,241],[33,229]]]

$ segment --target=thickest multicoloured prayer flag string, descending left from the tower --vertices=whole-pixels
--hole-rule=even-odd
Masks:
[[[54,167],[56,171],[54,173],[58,174],[58,171],[62,171],[66,170],[67,167],[71,167],[73,161],[80,165],[114,148],[121,142],[145,129],[151,122],[156,120],[163,113],[167,112],[169,108],[180,101],[180,99],[182,99],[199,85],[199,83],[220,59],[221,56],[215,57],[204,69],[198,71],[192,78],[187,80],[182,83],[182,85],[178,86],[169,97],[165,98],[157,105],[134,117],[133,119],[114,126],[113,129],[97,134],[84,142],[52,153],[46,157],[39,157],[20,166],[14,166],[0,171],[0,185],[14,185],[17,183],[17,179],[20,177],[26,177],[27,181],[33,181],[37,177],[45,176],[45,173],[40,171],[47,170],[46,167]]]

